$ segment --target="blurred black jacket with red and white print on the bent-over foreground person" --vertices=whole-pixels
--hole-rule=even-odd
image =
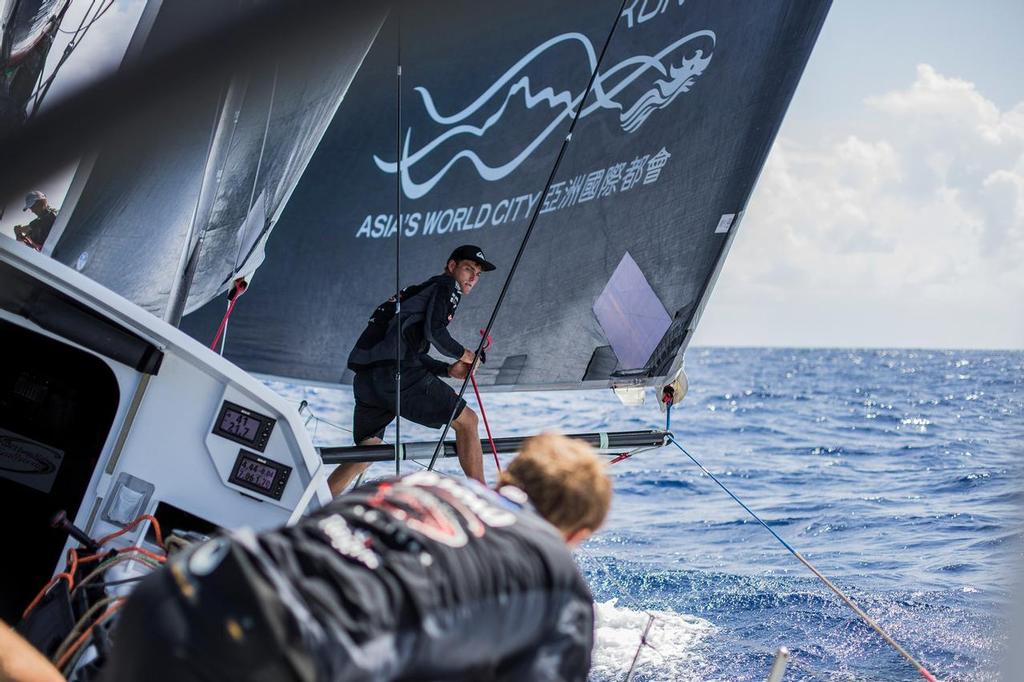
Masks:
[[[428,471],[378,481],[247,549],[291,591],[293,632],[316,624],[294,645],[311,645],[317,679],[587,679],[593,598],[571,553],[482,485]]]

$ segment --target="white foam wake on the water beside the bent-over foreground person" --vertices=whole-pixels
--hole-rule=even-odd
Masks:
[[[642,611],[616,605],[617,599],[595,605],[596,642],[591,680],[622,680],[636,655],[650,615],[649,646],[640,651],[636,674],[647,680],[700,680],[701,644],[715,626],[695,615],[674,611]]]

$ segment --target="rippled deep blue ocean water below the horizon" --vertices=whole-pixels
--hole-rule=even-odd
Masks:
[[[1000,669],[1021,632],[1006,606],[1024,598],[1024,352],[693,348],[686,370],[672,427],[694,457],[939,679],[1015,679]],[[348,391],[271,386],[309,401],[318,441],[349,442],[332,426],[348,426]],[[653,395],[627,408],[610,391],[484,407],[503,435],[665,419]],[[436,432],[403,422],[402,437]],[[920,679],[678,451],[612,473],[608,522],[578,553],[598,603],[592,680],[624,679],[651,615],[635,680],[764,680],[779,646],[785,680]]]

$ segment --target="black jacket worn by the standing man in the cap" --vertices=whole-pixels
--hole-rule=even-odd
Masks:
[[[432,374],[444,376],[447,365],[431,357],[430,346],[440,353],[459,359],[465,347],[452,338],[447,326],[459,308],[462,290],[449,274],[438,274],[426,282],[406,287],[401,298],[401,367],[424,367]],[[373,367],[394,365],[398,323],[394,297],[374,310],[367,329],[359,335],[348,355],[348,369],[360,372]]]

